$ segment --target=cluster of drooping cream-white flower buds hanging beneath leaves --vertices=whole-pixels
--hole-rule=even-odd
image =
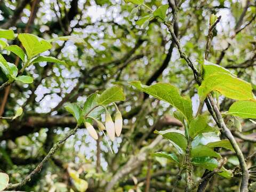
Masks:
[[[115,114],[115,123],[113,122],[110,113],[108,112],[108,110],[105,108],[106,114],[105,114],[105,126],[98,121],[97,119],[93,118],[93,117],[87,117],[87,118],[91,118],[93,121],[95,121],[98,125],[99,131],[104,132],[104,130],[107,131],[108,137],[111,141],[114,141],[115,139],[115,134],[117,135],[117,137],[120,136],[121,131],[122,131],[122,127],[123,127],[123,118],[122,118],[122,114],[119,111],[117,105],[114,103],[115,107],[116,107],[116,114]],[[87,131],[89,132],[89,134],[91,135],[91,137],[95,140],[98,139],[98,134],[95,131],[93,125],[89,122],[85,122],[85,127],[87,129]]]

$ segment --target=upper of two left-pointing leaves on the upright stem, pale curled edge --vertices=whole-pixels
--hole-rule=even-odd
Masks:
[[[177,132],[166,133],[166,131],[162,132],[157,130],[155,130],[154,133],[161,134],[165,139],[169,139],[180,154],[185,153],[188,142],[183,134]]]

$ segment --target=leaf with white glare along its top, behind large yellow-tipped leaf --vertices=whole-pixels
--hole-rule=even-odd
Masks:
[[[210,75],[212,75],[214,73],[218,73],[218,72],[233,75],[233,74],[231,74],[231,72],[228,69],[221,67],[220,65],[214,64],[207,60],[204,60],[204,63],[202,66],[203,66],[203,78],[204,79],[206,77],[209,77]]]

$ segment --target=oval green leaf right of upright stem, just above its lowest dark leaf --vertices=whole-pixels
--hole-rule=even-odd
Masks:
[[[191,149],[191,157],[218,157],[221,158],[220,154],[215,152],[213,149],[207,146],[198,145]]]

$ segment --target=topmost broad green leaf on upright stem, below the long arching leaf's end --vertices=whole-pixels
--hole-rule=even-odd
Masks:
[[[208,118],[206,115],[199,115],[192,119],[189,123],[189,136],[195,138],[200,133],[215,131],[213,127],[207,124],[207,121]]]

